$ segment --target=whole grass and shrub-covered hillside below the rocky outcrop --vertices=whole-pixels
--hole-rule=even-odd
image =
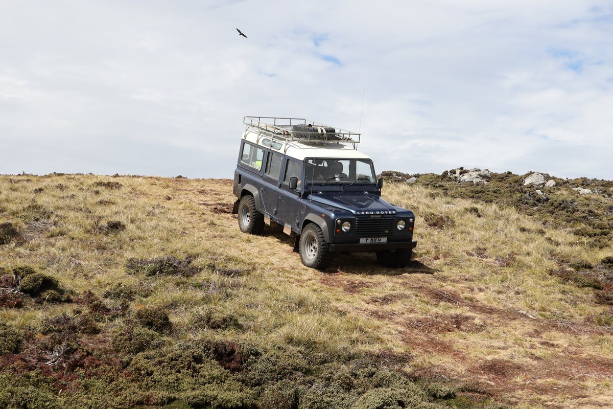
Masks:
[[[434,178],[408,268],[321,273],[229,180],[0,176],[0,407],[613,405],[610,242]]]

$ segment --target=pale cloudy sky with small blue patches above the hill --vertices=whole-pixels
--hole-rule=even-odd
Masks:
[[[613,180],[612,91],[611,0],[0,0],[0,174],[232,178],[253,115],[378,172]]]

